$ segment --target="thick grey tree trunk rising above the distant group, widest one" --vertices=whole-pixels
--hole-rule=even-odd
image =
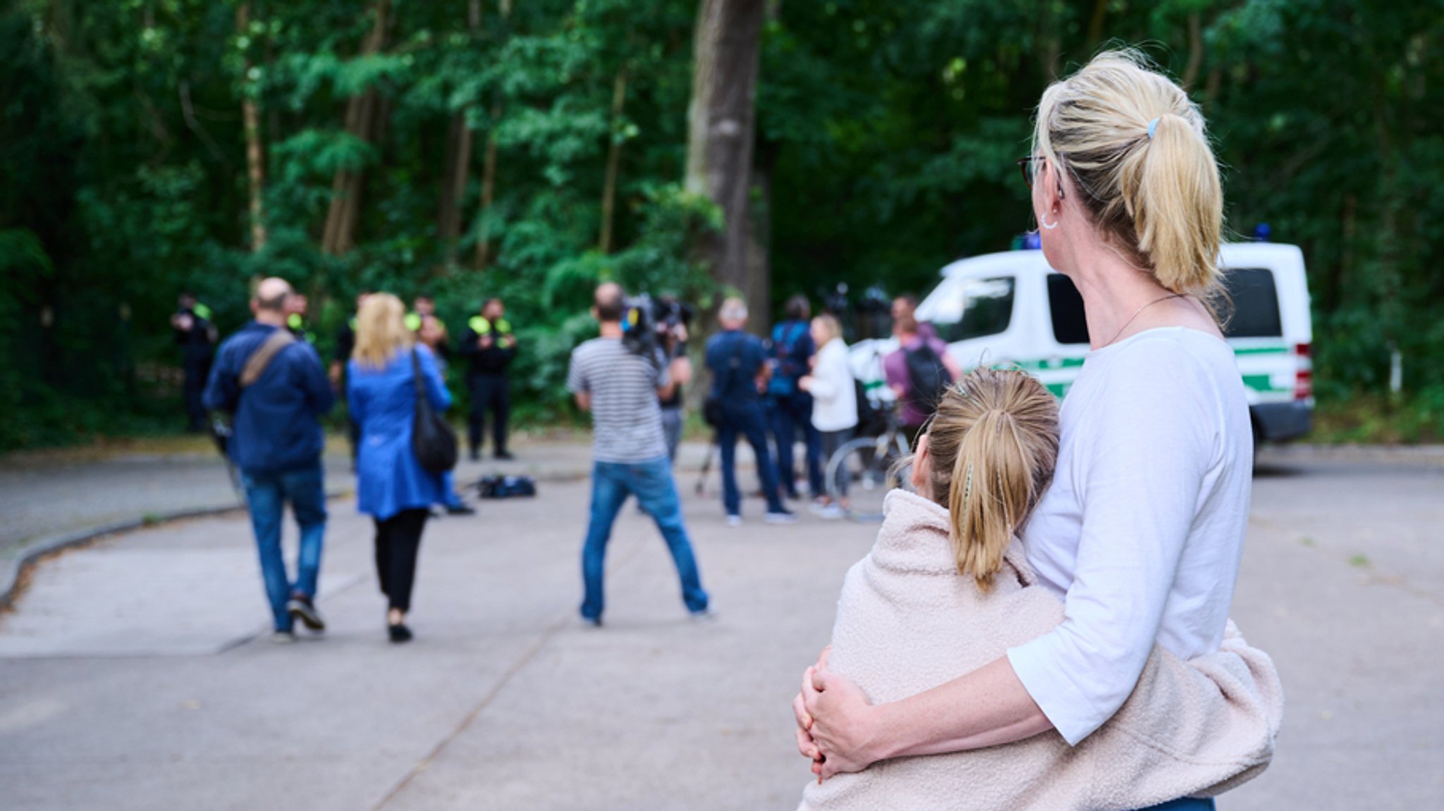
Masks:
[[[751,287],[748,192],[765,10],[765,0],[700,0],[697,9],[686,188],[722,209],[722,231],[699,238],[697,257],[719,284],[736,291]]]

